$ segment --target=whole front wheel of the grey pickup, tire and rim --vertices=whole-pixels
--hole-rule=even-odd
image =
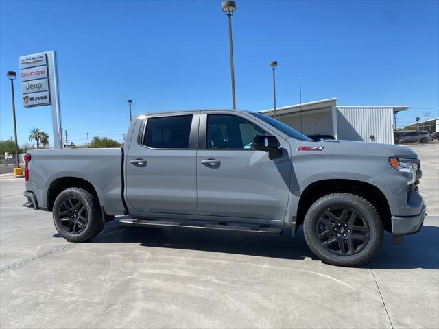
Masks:
[[[303,223],[309,249],[324,263],[357,266],[366,263],[383,241],[383,223],[366,199],[351,193],[321,197]]]

